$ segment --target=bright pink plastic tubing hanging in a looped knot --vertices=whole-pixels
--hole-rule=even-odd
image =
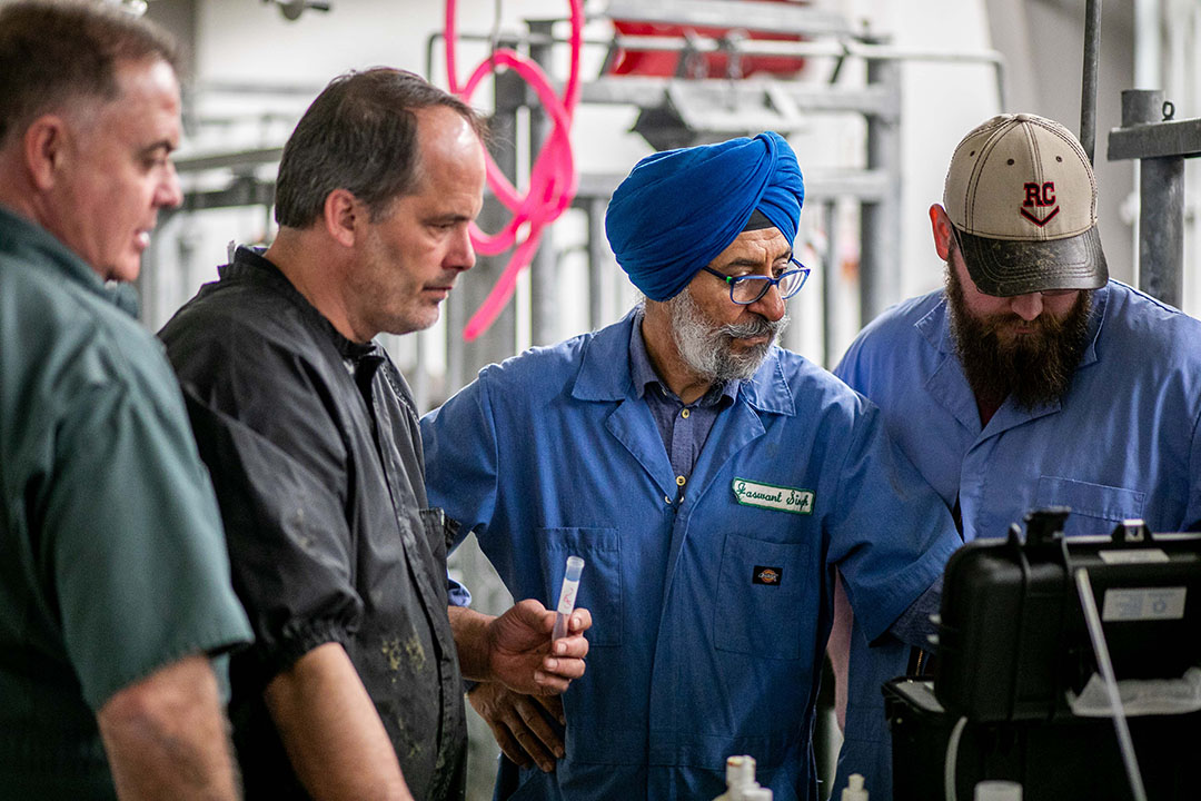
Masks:
[[[555,127],[543,143],[533,168],[530,171],[530,187],[525,195],[518,190],[497,168],[492,157],[485,153],[488,161],[488,185],[497,199],[513,213],[508,225],[498,233],[488,234],[479,229],[476,223],[471,226],[471,243],[476,251],[484,256],[496,256],[503,253],[509,247],[516,245],[509,263],[497,279],[496,286],[488,293],[488,298],[476,310],[467,325],[462,329],[462,337],[468,342],[488,330],[489,325],[504,309],[504,305],[513,297],[516,288],[518,274],[530,264],[530,259],[538,250],[543,228],[558,219],[561,214],[572,204],[579,179],[575,174],[575,160],[572,156],[572,116],[575,113],[575,104],[580,98],[580,48],[584,40],[584,5],[582,0],[569,0],[572,6],[572,67],[567,78],[567,86],[563,97],[555,94],[554,86],[534,61],[509,48],[498,48],[490,58],[484,60],[476,71],[471,73],[466,85],[459,86],[458,73],[455,72],[455,46],[458,36],[455,31],[455,6],[458,0],[447,0],[446,5],[446,40],[447,40],[447,80],[450,91],[465,102],[471,102],[471,96],[476,92],[479,83],[500,68],[513,70],[533,88],[542,102],[543,108],[550,116]],[[521,238],[521,232],[525,237]]]

